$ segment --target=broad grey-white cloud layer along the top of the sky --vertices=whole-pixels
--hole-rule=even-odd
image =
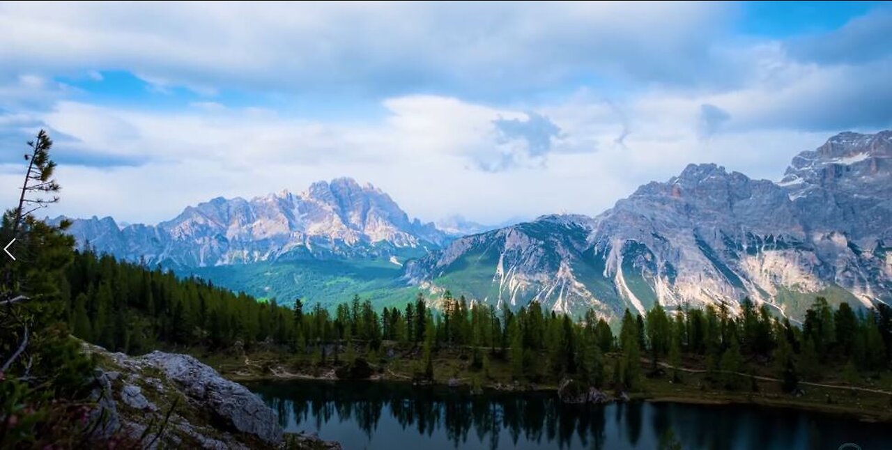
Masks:
[[[568,79],[697,85],[725,4],[0,4],[0,75],[127,70],[161,91],[475,98]],[[696,29],[697,33],[690,30]],[[457,32],[460,30],[460,32]],[[646,30],[646,31],[645,31]],[[706,70],[704,70],[706,68]]]

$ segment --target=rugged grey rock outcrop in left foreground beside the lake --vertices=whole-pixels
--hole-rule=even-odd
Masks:
[[[102,418],[103,436],[120,430],[149,448],[275,448],[284,442],[276,413],[260,398],[192,356],[85,348],[100,362],[94,418]]]

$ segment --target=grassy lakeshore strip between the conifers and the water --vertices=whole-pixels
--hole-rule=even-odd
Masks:
[[[357,355],[362,355],[363,346],[358,346]],[[386,355],[385,348],[392,348],[394,357],[382,356],[371,361],[376,367],[376,380],[412,380],[422,372],[420,348],[396,345],[387,342],[378,355]],[[443,348],[434,353],[434,383],[447,384],[458,381],[459,384],[471,385],[474,382],[491,389],[508,390],[556,390],[560,377],[544,376],[533,383],[531,380],[514,380],[507,359],[491,355],[489,349],[483,350],[487,362],[485,368],[475,370],[471,367],[470,349]],[[227,378],[232,380],[269,380],[284,378],[275,372],[284,369],[293,375],[303,377],[324,377],[330,368],[319,368],[311,361],[311,356],[295,356],[290,352],[264,349],[252,351],[248,356],[250,363],[246,365],[244,356],[220,355],[214,352],[197,352],[196,357],[211,365]],[[613,364],[618,355],[605,356],[606,379],[609,380]],[[343,358],[343,353],[342,353]],[[537,360],[545,361],[544,357]],[[329,363],[331,361],[329,360]],[[675,402],[692,404],[755,404],[772,407],[795,408],[822,413],[837,413],[855,416],[867,421],[892,421],[892,396],[847,389],[841,379],[842,367],[825,367],[826,376],[819,381],[823,384],[837,385],[826,388],[800,384],[802,392],[798,396],[780,390],[780,382],[770,380],[752,380],[747,376],[738,376],[738,389],[725,389],[719,377],[710,377],[705,372],[681,372],[680,380],[673,382],[669,369],[651,371],[651,364],[642,361],[642,376],[638,389],[629,395],[633,399],[654,402]],[[329,364],[330,366],[330,364]],[[705,364],[700,357],[687,357],[682,366],[685,369],[701,371]],[[275,370],[270,371],[270,368]],[[541,372],[544,367],[539,368]],[[774,377],[771,366],[756,362],[747,364],[747,372],[762,377]],[[892,391],[892,373],[870,373],[857,383],[864,389],[880,389]],[[810,382],[811,380],[804,380]]]

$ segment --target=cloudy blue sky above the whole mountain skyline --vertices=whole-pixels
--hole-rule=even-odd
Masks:
[[[892,6],[0,3],[0,200],[154,224],[351,176],[410,217],[596,215],[714,162],[780,179],[892,127]]]

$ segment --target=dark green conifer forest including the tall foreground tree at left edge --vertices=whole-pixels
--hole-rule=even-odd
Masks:
[[[442,364],[454,356],[478,377],[498,364],[516,383],[554,386],[572,377],[617,392],[642,389],[655,374],[677,380],[691,361],[705,366],[714,389],[727,390],[746,389],[746,374],[756,369],[770,370],[788,393],[827,371],[841,370],[849,386],[888,374],[892,308],[882,303],[831,307],[818,298],[802,323],[749,299],[739,308],[656,303],[608,323],[592,311],[571,317],[536,302],[496,308],[448,291],[436,299],[418,293],[405,307],[380,311],[359,296],[331,311],[301,299],[288,307],[259,301],[160,267],[74,250],[68,223],[32,215],[59,200],[60,186],[48,135],[41,131],[29,146],[18,206],[0,224],[0,240],[14,239],[18,257],[0,258],[0,446],[87,445],[98,423],[87,417],[96,362],[83,341],[129,354],[163,348],[241,356],[276,348],[303,367],[347,367],[339,376],[354,377],[368,374],[357,367],[380,370],[405,359],[411,378],[427,382],[435,358]]]

